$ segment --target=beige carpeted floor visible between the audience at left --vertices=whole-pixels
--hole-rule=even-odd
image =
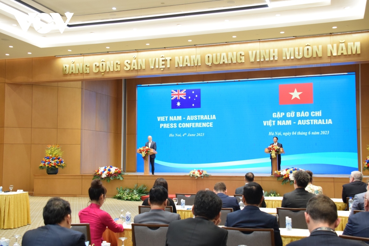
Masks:
[[[87,207],[89,198],[87,197],[62,197],[64,200],[69,201],[72,209],[72,223],[79,223],[78,212]],[[44,225],[44,219],[42,218],[42,209],[50,197],[30,197],[30,209],[31,209],[31,225],[22,226],[15,229],[0,229],[0,238],[10,239],[9,246],[13,246],[15,242],[14,235],[21,235],[18,242],[21,244],[23,234],[31,229],[35,229]],[[101,209],[107,211],[112,218],[117,218],[120,215],[120,210],[124,209],[124,214],[127,210],[133,217],[138,214],[138,205],[141,205],[142,201],[121,201],[113,198],[106,198]]]

